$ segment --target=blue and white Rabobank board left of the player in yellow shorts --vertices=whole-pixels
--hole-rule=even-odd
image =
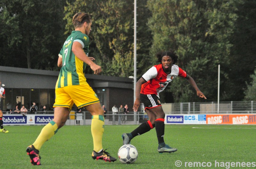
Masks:
[[[30,125],[30,124],[48,124],[53,120],[53,115],[4,115],[4,124],[10,125]]]

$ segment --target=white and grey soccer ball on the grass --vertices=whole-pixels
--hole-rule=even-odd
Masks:
[[[124,164],[134,163],[138,157],[137,149],[131,144],[125,144],[118,150],[118,159]]]

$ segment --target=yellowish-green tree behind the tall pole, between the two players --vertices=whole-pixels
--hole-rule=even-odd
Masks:
[[[72,16],[83,11],[92,15],[92,32],[89,37],[90,56],[96,59],[104,75],[128,77],[133,74],[133,5],[129,1],[82,1],[77,0],[73,4],[65,7],[66,34],[73,28]],[[144,4],[143,4],[144,3]],[[146,0],[138,3],[141,13],[140,25],[138,31],[141,33],[138,37],[138,54],[140,68],[147,64],[144,56],[148,56],[150,46],[150,34],[144,23],[147,22],[148,9],[145,8]],[[86,10],[83,10],[86,9]],[[95,10],[97,9],[97,10]],[[140,15],[139,13],[139,15]],[[149,12],[150,13],[150,12]],[[139,34],[139,33],[138,33]],[[141,49],[141,51],[140,51]],[[148,59],[146,59],[148,60]],[[148,65],[147,65],[148,67]],[[141,69],[143,69],[141,68]],[[90,69],[88,69],[90,71]],[[144,71],[144,70],[143,70]],[[141,74],[141,71],[140,71]]]

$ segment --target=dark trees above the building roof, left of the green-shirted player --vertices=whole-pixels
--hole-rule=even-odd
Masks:
[[[63,41],[65,1],[3,0],[1,45],[3,66],[52,70],[56,67],[60,41]],[[5,44],[4,42],[7,42]]]

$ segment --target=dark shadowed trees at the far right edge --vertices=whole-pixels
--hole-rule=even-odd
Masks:
[[[252,81],[256,59],[256,1],[246,0],[242,5],[237,5],[239,16],[235,23],[235,31],[231,36],[233,47],[229,78],[223,84],[229,100],[241,101],[244,98],[244,90],[247,83]],[[247,81],[247,83],[245,83]],[[249,94],[249,93],[248,93]]]

